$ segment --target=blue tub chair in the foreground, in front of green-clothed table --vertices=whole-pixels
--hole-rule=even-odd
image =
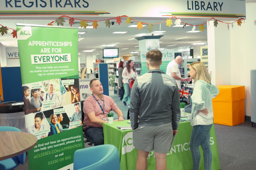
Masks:
[[[117,148],[114,145],[106,144],[76,150],[74,154],[74,170],[85,169],[120,170]]]

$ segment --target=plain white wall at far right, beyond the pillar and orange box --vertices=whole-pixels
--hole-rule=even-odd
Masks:
[[[256,69],[256,3],[246,3],[246,20],[230,30],[231,84],[245,86],[245,114],[251,116],[250,70]]]

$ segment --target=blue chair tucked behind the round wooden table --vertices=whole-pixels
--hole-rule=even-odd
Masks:
[[[0,131],[20,131],[18,128],[9,127],[9,126],[0,126]],[[5,159],[0,161],[0,169],[1,170],[12,170],[19,166],[19,164],[24,164],[26,153],[20,154],[13,158]]]

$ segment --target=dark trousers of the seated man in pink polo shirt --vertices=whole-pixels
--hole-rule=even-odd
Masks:
[[[103,127],[86,127],[84,134],[93,140],[94,146],[104,144]]]

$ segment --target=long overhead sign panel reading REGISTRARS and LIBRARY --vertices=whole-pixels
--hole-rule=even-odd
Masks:
[[[92,16],[116,17],[179,17],[202,18],[229,18],[229,20],[245,19],[245,1],[238,0],[4,0],[0,3],[0,18],[8,17],[54,17],[70,15],[71,17]],[[135,5],[136,4],[136,5]],[[126,8],[123,8],[123,7]],[[143,8],[143,10],[141,10]],[[207,17],[207,18],[206,18]],[[54,18],[56,19],[56,18]]]

